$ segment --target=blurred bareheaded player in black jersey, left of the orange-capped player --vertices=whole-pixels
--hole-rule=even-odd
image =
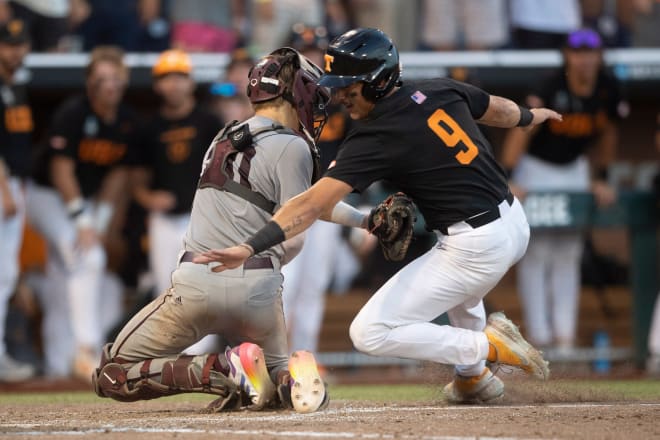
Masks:
[[[86,94],[64,102],[47,134],[46,158],[27,198],[30,223],[48,241],[43,303],[45,371],[89,380],[105,333],[122,312],[122,286],[106,271],[119,229],[134,150],[136,115],[123,102],[128,68],[123,52],[90,54]],[[114,246],[109,246],[112,243]],[[72,365],[73,360],[73,365]]]

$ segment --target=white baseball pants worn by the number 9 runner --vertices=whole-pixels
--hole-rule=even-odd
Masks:
[[[488,356],[482,298],[525,253],[529,225],[521,204],[504,201],[500,218],[472,228],[465,222],[436,232],[437,244],[383,285],[350,327],[367,354],[453,364],[481,374]],[[431,321],[447,313],[451,325]]]

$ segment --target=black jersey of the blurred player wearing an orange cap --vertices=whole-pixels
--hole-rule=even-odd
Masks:
[[[152,172],[151,189],[176,196],[172,213],[190,212],[204,154],[222,128],[212,113],[196,105],[184,118],[155,116],[141,130],[139,165]]]

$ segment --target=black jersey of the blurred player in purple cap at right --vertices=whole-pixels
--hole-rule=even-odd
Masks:
[[[532,137],[528,153],[546,162],[566,164],[584,154],[598,139],[608,121],[627,113],[617,80],[601,72],[591,96],[570,92],[563,70],[549,78],[535,93],[543,106],[562,114],[563,121],[548,121]]]

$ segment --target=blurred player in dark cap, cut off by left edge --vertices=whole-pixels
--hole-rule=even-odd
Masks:
[[[29,34],[22,20],[0,26],[0,382],[25,380],[34,374],[31,365],[7,353],[5,343],[9,300],[19,275],[25,218],[22,186],[30,170],[34,128],[25,87],[14,84],[14,74],[29,50]]]

